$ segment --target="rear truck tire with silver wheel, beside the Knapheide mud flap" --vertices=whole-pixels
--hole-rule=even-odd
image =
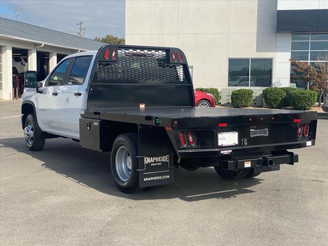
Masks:
[[[134,193],[139,188],[138,137],[133,133],[118,135],[111,153],[111,170],[115,185],[121,192]]]

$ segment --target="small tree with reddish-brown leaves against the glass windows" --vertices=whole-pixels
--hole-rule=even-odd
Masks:
[[[292,66],[295,66],[293,71],[296,73],[292,78],[300,78],[308,82],[312,90],[318,91],[318,103],[321,105],[321,98],[325,93],[328,93],[328,55],[323,55],[317,58],[312,64],[306,61],[298,61],[290,59]]]

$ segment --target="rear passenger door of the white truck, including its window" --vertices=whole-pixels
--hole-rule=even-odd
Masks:
[[[91,73],[91,69],[89,69],[91,60],[92,56],[90,55],[75,57],[68,80],[60,86],[58,97],[60,131],[70,133],[70,135],[79,134],[80,110],[85,108],[88,86],[86,78]]]

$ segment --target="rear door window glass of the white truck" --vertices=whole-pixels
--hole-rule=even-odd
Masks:
[[[68,85],[82,85],[86,78],[92,56],[76,57],[71,74],[68,78]]]

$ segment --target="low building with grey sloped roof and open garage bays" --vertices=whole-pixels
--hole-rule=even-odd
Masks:
[[[66,55],[97,50],[103,45],[92,39],[0,18],[0,98],[13,98],[13,84],[20,85],[16,92],[22,94],[24,70],[37,71],[38,80],[42,80]],[[13,74],[17,74],[17,85],[16,81],[13,83]]]

